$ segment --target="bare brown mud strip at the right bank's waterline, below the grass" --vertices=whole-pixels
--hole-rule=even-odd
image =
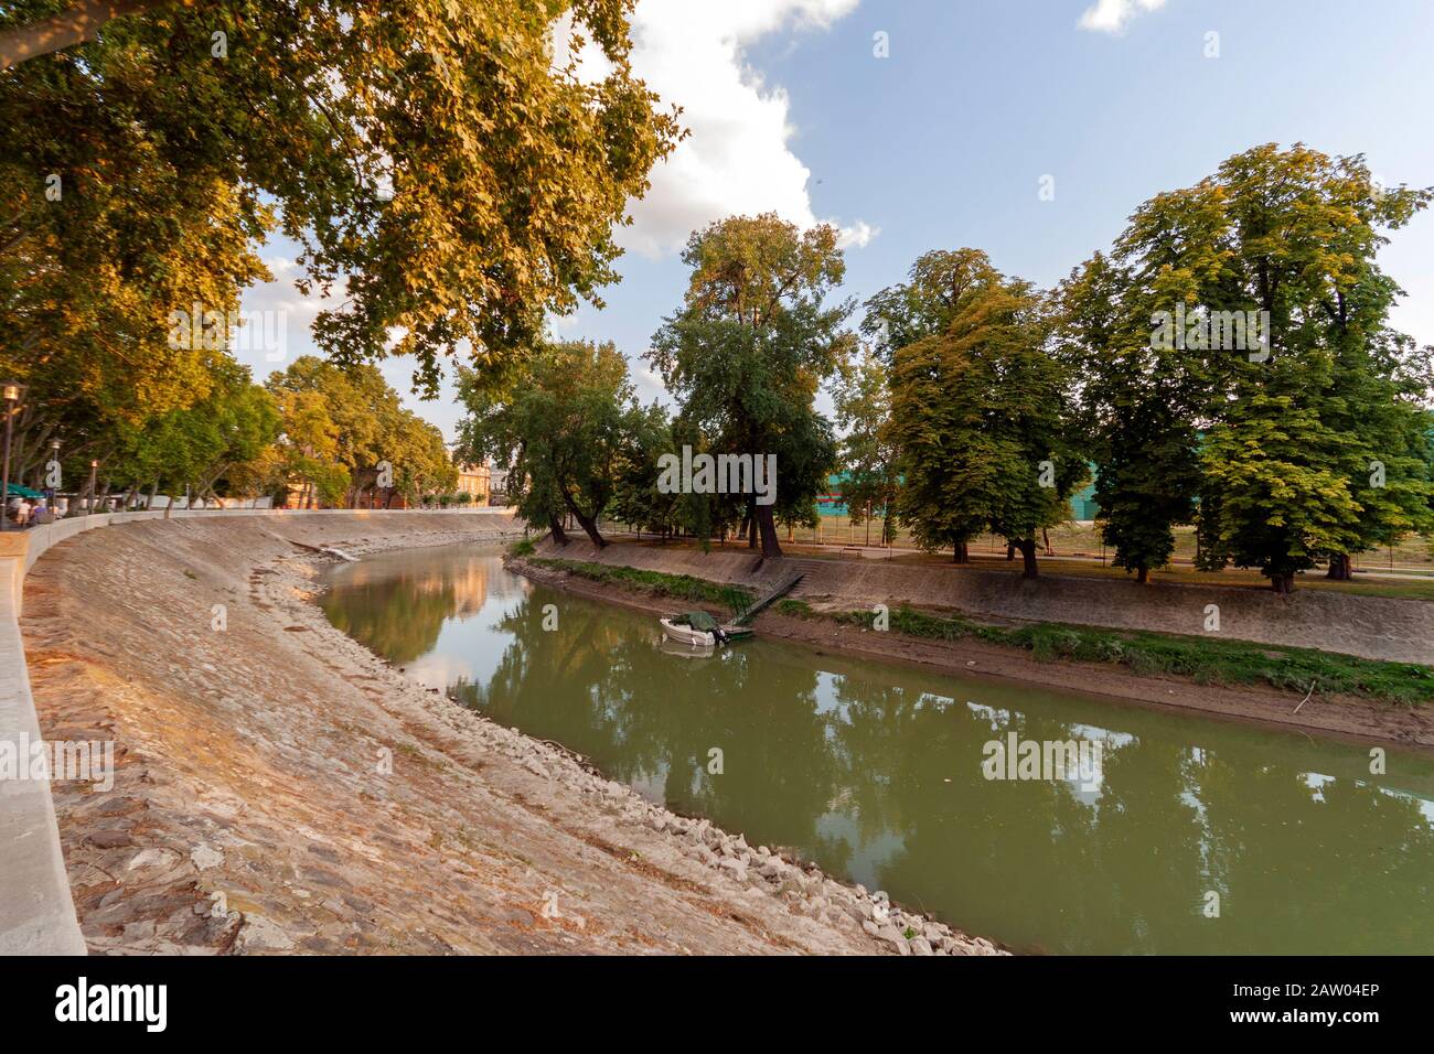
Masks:
[[[578,545],[569,545],[568,549],[558,549],[543,543],[539,546],[541,556],[538,559],[571,559],[568,551],[578,548]],[[628,566],[621,558],[622,554],[614,555],[608,551],[604,554],[607,555],[605,566]],[[576,559],[588,556],[591,552],[575,554]],[[747,582],[740,575],[731,574],[706,579],[701,575],[700,554],[678,551],[674,556],[675,559],[671,562],[674,574],[711,581],[721,588],[747,585],[750,589],[760,591],[783,574],[782,569],[766,566]],[[730,561],[723,562],[723,569],[726,569],[727,562]],[[651,558],[645,558],[642,564],[648,574],[661,574],[652,571],[654,561]],[[591,581],[565,569],[542,566],[541,562],[523,558],[511,559],[509,566],[554,588],[652,614],[667,614],[675,607],[681,607],[681,602],[654,595],[650,589]],[[842,566],[825,571],[827,588]],[[896,631],[876,632],[835,617],[852,607],[850,597],[843,595],[840,589],[836,591],[835,597],[822,594],[820,598],[816,598],[812,592],[806,595],[813,599],[813,604],[807,605],[803,601],[796,605],[804,609],[806,617],[782,614],[783,605],[779,605],[757,618],[759,634],[856,658],[901,663],[961,675],[1012,678],[1063,691],[1114,697],[1141,706],[1193,711],[1222,720],[1314,731],[1368,743],[1394,743],[1405,749],[1434,751],[1434,711],[1427,706],[1411,707],[1357,695],[1322,693],[1304,698],[1301,693],[1273,688],[1200,684],[1184,677],[1134,673],[1111,663],[1043,661],[1031,651],[991,644],[972,637],[946,641],[912,637]],[[720,605],[706,604],[704,607],[716,614],[727,614],[720,611]]]

